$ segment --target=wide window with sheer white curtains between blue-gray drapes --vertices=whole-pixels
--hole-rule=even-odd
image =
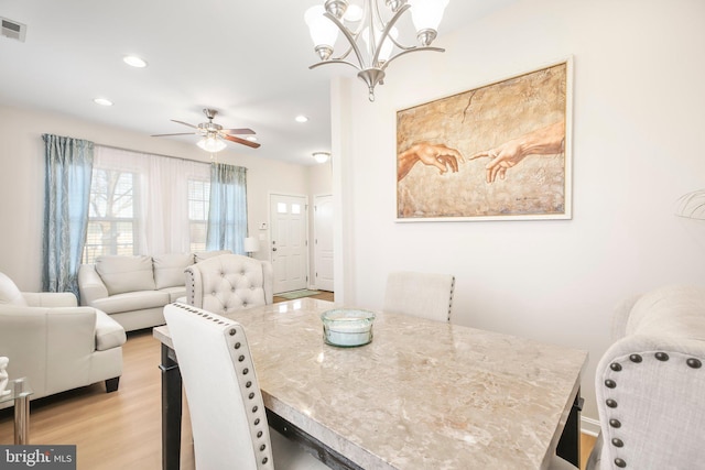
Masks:
[[[84,263],[204,251],[210,165],[95,146]]]

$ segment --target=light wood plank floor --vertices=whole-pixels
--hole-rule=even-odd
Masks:
[[[333,300],[333,293],[315,297]],[[151,330],[128,336],[123,359],[115,393],[106,393],[100,383],[31,402],[30,442],[76,445],[79,470],[161,469],[160,343]],[[0,411],[1,444],[12,444],[12,408]],[[581,441],[584,466],[595,438],[582,435]],[[187,413],[182,469],[194,469]]]

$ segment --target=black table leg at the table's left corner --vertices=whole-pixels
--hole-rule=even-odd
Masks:
[[[162,469],[178,470],[181,460],[182,381],[174,350],[162,345]]]

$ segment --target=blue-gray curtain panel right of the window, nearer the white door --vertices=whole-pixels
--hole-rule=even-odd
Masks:
[[[247,237],[247,168],[210,164],[208,250],[231,250],[245,254]]]

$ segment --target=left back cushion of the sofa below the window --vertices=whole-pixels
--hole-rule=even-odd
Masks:
[[[156,288],[151,256],[98,256],[96,271],[110,295]]]

